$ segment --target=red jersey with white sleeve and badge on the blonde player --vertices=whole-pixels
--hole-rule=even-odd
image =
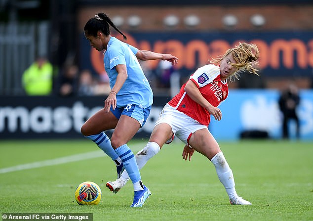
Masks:
[[[202,96],[214,107],[217,107],[228,96],[228,85],[226,80],[221,81],[219,66],[208,64],[200,67],[189,79],[196,84]],[[200,124],[208,126],[211,120],[210,113],[188,96],[184,90],[185,86],[186,83],[168,104]]]

